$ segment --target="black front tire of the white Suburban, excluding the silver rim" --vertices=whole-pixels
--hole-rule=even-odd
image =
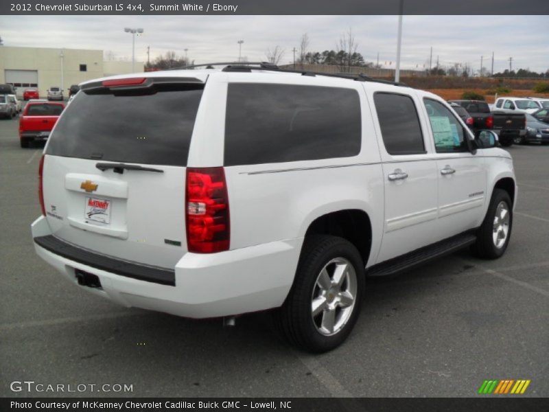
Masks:
[[[493,238],[495,215],[501,203],[505,204],[507,213],[509,214],[508,230],[504,242],[501,245],[496,245]],[[502,219],[500,219],[502,222]],[[503,226],[503,225],[502,225]],[[509,193],[502,189],[494,189],[490,205],[484,217],[482,225],[478,229],[476,242],[472,245],[471,251],[482,259],[497,259],[500,258],[507,249],[509,239],[511,239],[511,229],[513,228],[513,203]],[[498,230],[498,233],[500,231]],[[499,240],[498,240],[499,241]]]

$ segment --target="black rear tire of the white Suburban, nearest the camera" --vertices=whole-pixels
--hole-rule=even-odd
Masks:
[[[335,272],[336,267],[341,265],[347,265],[349,268],[344,272],[347,275],[342,276],[345,280],[340,289],[347,288],[342,293],[352,295],[349,290],[353,290],[353,285],[355,287],[353,304],[349,306],[342,306],[338,301],[341,299],[341,295],[333,293],[331,288],[323,295],[325,290],[320,287],[320,283],[317,283],[324,268],[329,274],[331,268],[334,268]],[[354,269],[355,279],[353,279],[353,271],[350,270],[351,266]],[[330,280],[331,285],[337,288],[334,279],[330,277]],[[363,289],[364,263],[360,253],[351,242],[336,236],[307,236],[301,251],[294,284],[283,306],[276,314],[279,327],[290,342],[303,350],[315,353],[333,350],[347,339],[355,325],[360,313]],[[313,317],[312,314],[314,295],[317,295],[316,299],[325,298],[323,307],[326,308],[320,311],[316,317]],[[334,307],[334,309],[331,310],[330,307]],[[333,312],[334,319],[336,319],[332,327],[332,334],[327,334],[327,330],[321,332],[324,317],[329,318],[328,312]]]

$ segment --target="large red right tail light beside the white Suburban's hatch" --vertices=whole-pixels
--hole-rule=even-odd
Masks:
[[[229,250],[229,196],[223,168],[187,168],[185,203],[189,252]]]

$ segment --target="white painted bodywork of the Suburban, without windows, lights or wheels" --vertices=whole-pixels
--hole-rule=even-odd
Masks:
[[[366,266],[372,266],[478,227],[495,182],[504,177],[514,179],[511,158],[504,150],[478,150],[476,155],[434,152],[421,101],[423,97],[439,100],[430,93],[261,71],[170,71],[139,76],[181,76],[206,82],[191,139],[189,167],[223,165],[229,82],[354,89],[362,109],[362,148],[355,157],[224,168],[231,249],[211,254],[187,252],[185,168],[158,166],[162,174],[130,170],[116,174],[97,170],[96,161],[47,156],[45,207],[58,218],[38,218],[32,224],[33,237],[54,235],[102,255],[175,271],[176,286],[143,282],[67,260],[35,244],[38,255],[71,282],[76,283],[75,269],[93,273],[100,277],[103,290],[86,289],[124,306],[196,318],[275,308],[290,291],[305,233],[316,218],[344,209],[368,214],[372,233]],[[425,155],[388,155],[373,105],[375,91],[407,93],[414,99]],[[456,169],[449,179],[440,174],[445,165]],[[388,181],[387,175],[396,168],[406,171],[408,179]],[[85,180],[98,184],[91,196],[112,202],[109,227],[84,220],[86,192],[80,184]],[[181,246],[165,244],[165,239],[178,240]]]

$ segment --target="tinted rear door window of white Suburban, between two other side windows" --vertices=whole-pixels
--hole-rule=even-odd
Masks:
[[[425,153],[423,134],[412,98],[394,93],[375,93],[373,100],[389,155]]]

